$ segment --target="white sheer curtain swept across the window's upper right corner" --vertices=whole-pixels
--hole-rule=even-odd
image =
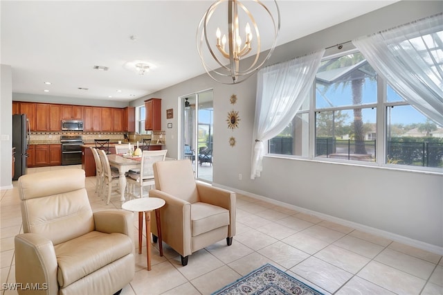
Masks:
[[[410,105],[443,126],[442,41],[440,13],[352,43]]]

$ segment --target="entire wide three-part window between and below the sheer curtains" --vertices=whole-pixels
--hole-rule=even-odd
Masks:
[[[359,51],[325,57],[313,89],[268,142],[269,154],[443,168],[443,127],[401,98]]]

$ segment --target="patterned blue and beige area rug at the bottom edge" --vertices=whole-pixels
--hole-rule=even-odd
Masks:
[[[212,295],[247,294],[247,295],[286,295],[286,294],[312,294],[323,295],[316,289],[305,285],[296,278],[289,276],[280,269],[266,264],[255,269],[251,274],[239,278],[234,283],[219,289]]]

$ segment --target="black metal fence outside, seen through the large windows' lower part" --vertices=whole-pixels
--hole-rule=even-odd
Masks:
[[[293,138],[275,137],[269,153],[293,154]],[[316,138],[316,157],[375,161],[377,141]],[[392,138],[386,144],[386,163],[443,168],[443,138]]]

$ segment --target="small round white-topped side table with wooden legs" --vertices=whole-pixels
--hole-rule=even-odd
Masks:
[[[146,256],[147,270],[151,270],[151,211],[155,211],[157,222],[157,232],[159,234],[159,251],[163,256],[163,245],[161,240],[161,221],[160,211],[165,205],[165,200],[158,197],[143,197],[140,199],[132,199],[122,204],[122,209],[126,211],[138,212],[138,254],[141,254],[142,233],[143,233],[143,213],[145,213],[146,224]]]

